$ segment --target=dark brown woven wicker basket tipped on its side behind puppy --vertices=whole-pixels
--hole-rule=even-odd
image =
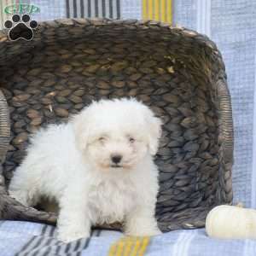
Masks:
[[[164,120],[155,159],[160,229],[202,227],[212,207],[232,202],[230,94],[207,37],[153,21],[55,20],[39,24],[30,42],[0,33],[0,73],[5,186],[39,126],[67,121],[93,99],[136,96]],[[55,223],[9,198],[3,177],[1,218]]]

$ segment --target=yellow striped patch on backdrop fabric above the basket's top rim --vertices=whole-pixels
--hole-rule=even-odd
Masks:
[[[143,20],[172,23],[172,0],[142,0]]]

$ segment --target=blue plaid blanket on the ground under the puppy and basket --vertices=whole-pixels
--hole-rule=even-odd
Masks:
[[[177,230],[130,244],[118,231],[94,230],[90,239],[61,243],[55,227],[19,221],[0,221],[0,256],[255,256],[256,241],[218,240],[205,230]],[[123,240],[122,240],[123,239]],[[141,242],[141,243],[140,243]],[[129,249],[129,250],[128,250]]]

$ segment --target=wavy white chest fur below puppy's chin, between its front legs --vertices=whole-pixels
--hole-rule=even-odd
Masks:
[[[102,180],[90,185],[89,210],[94,224],[123,221],[136,205],[136,189],[128,179]]]

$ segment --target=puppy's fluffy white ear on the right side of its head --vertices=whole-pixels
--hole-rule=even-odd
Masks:
[[[154,113],[150,110],[147,117],[148,125],[148,148],[149,153],[154,155],[156,154],[159,147],[159,139],[162,134],[162,121],[160,118],[154,116]]]

